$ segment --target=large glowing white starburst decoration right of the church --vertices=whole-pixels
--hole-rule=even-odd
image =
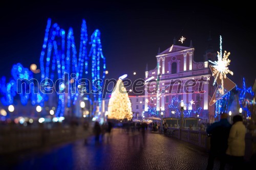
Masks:
[[[212,67],[215,69],[212,71],[212,76],[215,77],[214,85],[216,84],[217,79],[221,80],[221,88],[219,88],[219,92],[224,94],[224,85],[223,79],[227,78],[227,74],[233,75],[233,72],[228,69],[228,65],[230,64],[230,59],[228,59],[230,52],[224,51],[222,57],[222,37],[220,36],[220,52],[218,52],[218,61],[210,61],[210,63],[214,64]]]

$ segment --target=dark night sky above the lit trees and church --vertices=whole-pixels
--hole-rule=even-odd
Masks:
[[[120,3],[122,2],[122,3]],[[10,77],[14,63],[25,67],[39,65],[39,56],[45,35],[47,19],[57,22],[68,31],[72,27],[79,50],[80,26],[86,19],[89,36],[95,29],[101,31],[103,54],[106,58],[106,78],[117,79],[128,74],[130,79],[144,78],[148,68],[156,67],[158,47],[161,52],[172,46],[173,39],[186,37],[183,44],[193,40],[195,60],[203,61],[203,54],[211,32],[212,45],[219,51],[219,36],[223,51],[231,52],[228,75],[239,86],[242,78],[252,86],[255,80],[255,20],[252,6],[235,4],[234,8],[220,3],[193,1],[163,3],[161,1],[75,2],[58,1],[38,3],[9,3],[0,6],[0,76]],[[250,22],[247,22],[249,20]],[[137,75],[132,75],[133,71]]]

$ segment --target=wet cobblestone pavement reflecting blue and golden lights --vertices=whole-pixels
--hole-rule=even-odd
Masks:
[[[112,137],[105,135],[98,144],[89,138],[88,144],[79,140],[19,156],[19,163],[8,169],[206,169],[207,158],[204,150],[178,139],[152,132],[132,135],[114,129]]]

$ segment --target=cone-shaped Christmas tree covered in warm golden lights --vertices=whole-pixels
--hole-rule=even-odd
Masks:
[[[117,120],[131,120],[132,117],[133,112],[131,101],[125,87],[123,86],[122,80],[118,79],[109,101],[108,118]]]

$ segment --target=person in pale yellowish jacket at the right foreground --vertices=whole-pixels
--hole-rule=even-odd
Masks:
[[[243,169],[245,155],[246,128],[240,115],[233,116],[233,125],[228,136],[228,148],[226,154],[230,157],[233,169]]]

